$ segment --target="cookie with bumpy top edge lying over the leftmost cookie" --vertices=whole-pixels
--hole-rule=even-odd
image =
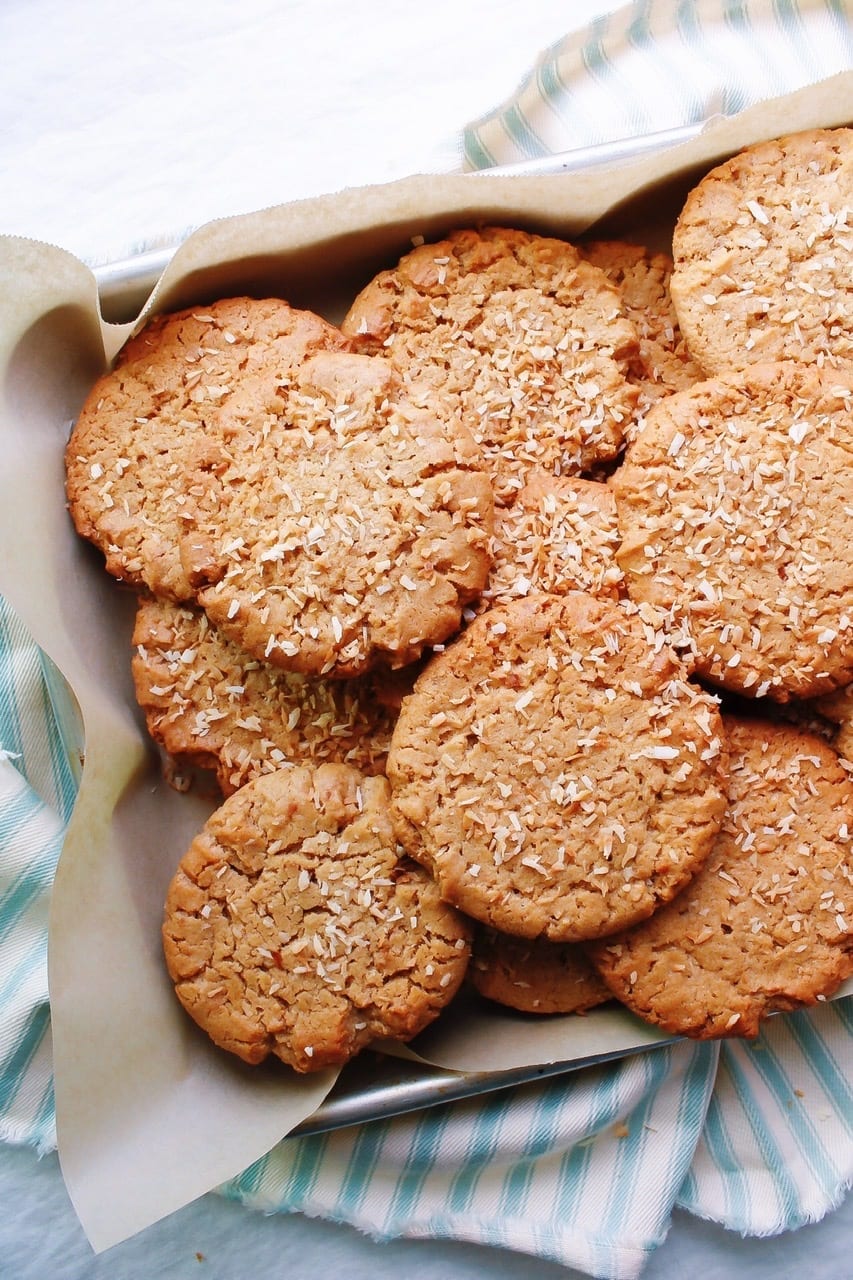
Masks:
[[[305,360],[268,430],[234,433],[184,540],[197,602],[255,658],[309,676],[415,660],[491,564],[493,497],[459,421],[391,365]]]

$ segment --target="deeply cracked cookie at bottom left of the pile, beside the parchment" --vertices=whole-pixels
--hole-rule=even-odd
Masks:
[[[388,783],[347,765],[265,774],[211,815],[165,904],[187,1012],[246,1062],[338,1065],[447,1005],[470,931],[400,859]]]

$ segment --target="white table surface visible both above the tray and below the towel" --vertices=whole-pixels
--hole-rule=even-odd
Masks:
[[[88,262],[210,218],[450,163],[460,127],[607,0],[1,0],[0,233]],[[409,1274],[570,1280],[453,1242],[377,1243],[206,1196],[95,1257],[55,1156],[0,1146],[4,1280]],[[676,1213],[644,1280],[853,1276],[853,1201],[743,1240]]]

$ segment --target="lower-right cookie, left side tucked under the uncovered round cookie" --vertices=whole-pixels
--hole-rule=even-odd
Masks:
[[[675,901],[589,954],[613,995],[678,1036],[756,1036],[853,973],[850,778],[820,739],[725,717],[729,809]]]

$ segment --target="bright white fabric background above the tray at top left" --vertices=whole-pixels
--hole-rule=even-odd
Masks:
[[[0,232],[86,260],[453,163],[607,0],[3,0]]]

